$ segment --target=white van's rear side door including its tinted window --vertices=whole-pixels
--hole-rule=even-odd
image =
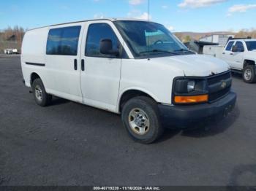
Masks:
[[[80,43],[83,23],[49,28],[45,65],[52,89],[48,93],[83,103],[80,90]]]

